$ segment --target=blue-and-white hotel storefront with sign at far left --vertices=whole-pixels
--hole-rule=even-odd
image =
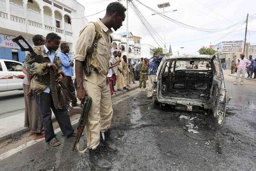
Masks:
[[[9,59],[23,62],[26,52],[22,52],[19,46],[13,42],[15,36],[0,33],[0,59]],[[28,44],[34,46],[31,39],[26,39]]]

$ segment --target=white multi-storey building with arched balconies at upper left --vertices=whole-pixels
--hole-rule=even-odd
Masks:
[[[55,32],[71,53],[86,23],[84,6],[76,0],[0,0],[0,58],[22,62],[24,52],[11,39],[22,35],[31,45],[36,34]],[[60,50],[60,49],[59,49]]]

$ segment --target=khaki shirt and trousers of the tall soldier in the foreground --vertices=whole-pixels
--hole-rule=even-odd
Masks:
[[[100,144],[100,132],[109,129],[112,121],[113,109],[110,95],[107,74],[109,70],[111,37],[113,32],[108,29],[100,19],[97,24],[101,28],[101,37],[98,40],[97,47],[94,48],[94,58],[96,58],[100,72],[92,69],[90,75],[84,75],[84,88],[88,96],[92,97],[88,121],[86,122],[87,146],[89,149],[96,149]],[[93,44],[96,27],[93,23],[86,24],[80,31],[79,39],[76,43],[75,59],[85,61],[85,56]],[[81,71],[83,72],[83,71]]]

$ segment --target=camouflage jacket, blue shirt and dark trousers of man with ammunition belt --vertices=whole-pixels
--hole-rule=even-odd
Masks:
[[[68,116],[67,107],[64,105],[63,109],[56,109],[53,105],[51,89],[49,88],[49,82],[44,81],[43,77],[49,78],[49,68],[47,67],[48,63],[55,63],[57,66],[57,74],[65,76],[61,70],[61,61],[57,57],[54,51],[49,51],[45,45],[35,46],[33,48],[36,54],[42,55],[49,62],[45,63],[28,63],[31,59],[30,53],[28,53],[26,59],[24,60],[26,68],[33,75],[31,80],[31,88],[36,93],[36,104],[40,110],[40,114],[43,119],[44,134],[46,142],[49,142],[51,139],[55,138],[55,133],[52,126],[52,111],[55,114],[57,122],[59,123],[60,129],[63,132],[64,136],[73,134],[74,129],[72,128],[71,121]],[[51,58],[49,57],[51,55]],[[53,57],[53,58],[52,58]],[[51,111],[52,109],[52,111]]]

